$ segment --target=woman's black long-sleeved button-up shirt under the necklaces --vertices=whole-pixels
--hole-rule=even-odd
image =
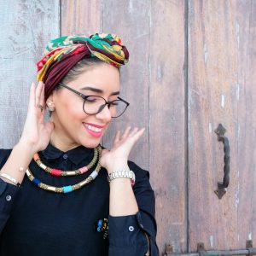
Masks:
[[[11,149],[0,150],[0,168],[10,152]],[[90,163],[93,149],[79,146],[62,152],[49,144],[39,156],[51,168],[74,170]],[[150,255],[159,255],[149,174],[133,162],[128,165],[136,175],[133,191],[139,212],[120,217],[109,216],[108,172],[104,168],[94,181],[67,194],[40,189],[26,175],[20,188],[0,179],[0,255],[140,256],[148,251],[145,233]],[[34,160],[29,167],[34,177],[55,187],[79,183],[93,171],[55,177]],[[96,229],[104,218],[108,219],[108,236]]]

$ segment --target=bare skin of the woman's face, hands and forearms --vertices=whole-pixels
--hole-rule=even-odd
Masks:
[[[67,85],[81,91],[84,95],[91,95],[90,91],[81,90],[87,84],[96,89],[101,89],[102,92],[96,95],[111,101],[117,97],[116,95],[113,96],[113,92],[119,91],[119,71],[116,67],[103,63],[81,74],[78,79]],[[93,94],[95,95],[95,92]],[[45,123],[44,84],[42,82],[38,86],[32,84],[22,136],[1,170],[1,172],[9,174],[11,177],[15,177],[19,183],[22,182],[25,175],[25,172],[18,171],[20,166],[26,170],[33,154],[44,150],[49,142],[62,151],[76,148],[79,145],[95,148],[102,137],[92,137],[84,130],[83,123],[103,125],[104,134],[112,121],[108,108],[104,108],[101,113],[95,115],[84,113],[82,109],[83,100],[80,100],[79,96],[65,88],[55,90],[47,99],[47,104],[49,105],[49,103],[53,113],[50,121]],[[38,105],[44,107],[43,111],[38,108]],[[127,165],[128,156],[131,148],[142,137],[143,132],[144,129],[138,129],[137,127],[131,129],[130,126],[123,133],[117,131],[113,138],[113,147],[102,152],[101,164],[107,172],[129,170]],[[4,180],[11,183],[7,179]],[[110,183],[109,214],[125,216],[135,214],[137,211],[137,201],[131,188],[130,179],[125,177],[114,179]]]

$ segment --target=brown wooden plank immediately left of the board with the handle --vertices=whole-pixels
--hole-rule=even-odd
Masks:
[[[149,54],[149,170],[158,244],[186,250],[185,1],[152,1]],[[160,254],[162,255],[162,254]]]

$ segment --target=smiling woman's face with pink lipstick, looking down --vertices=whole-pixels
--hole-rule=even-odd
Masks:
[[[92,67],[66,85],[85,96],[102,96],[106,101],[117,99],[119,94],[119,70],[107,63]],[[84,145],[95,148],[101,141],[104,132],[111,121],[108,107],[102,112],[89,115],[84,113],[84,100],[67,88],[54,90],[47,102],[52,102],[55,111],[51,120],[55,130],[51,143],[63,151]]]

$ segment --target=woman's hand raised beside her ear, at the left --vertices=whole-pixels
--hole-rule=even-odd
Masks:
[[[52,122],[44,122],[45,102],[44,83],[31,85],[25,125],[20,137],[20,144],[30,148],[32,154],[44,150],[54,129]]]

